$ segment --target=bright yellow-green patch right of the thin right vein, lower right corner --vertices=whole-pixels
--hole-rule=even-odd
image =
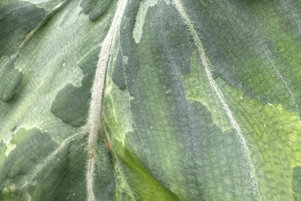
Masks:
[[[293,201],[293,168],[301,164],[298,114],[280,103],[271,105],[244,96],[225,80],[216,83],[247,140],[264,198]]]

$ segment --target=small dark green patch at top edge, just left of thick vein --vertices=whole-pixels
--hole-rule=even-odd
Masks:
[[[82,0],[79,4],[82,7],[80,13],[89,15],[89,20],[95,21],[107,12],[114,2],[116,0]]]

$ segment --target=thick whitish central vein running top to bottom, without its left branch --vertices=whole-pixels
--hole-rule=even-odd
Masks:
[[[87,182],[87,201],[94,201],[93,193],[93,173],[94,164],[98,150],[98,135],[100,132],[105,132],[104,124],[104,89],[107,82],[107,68],[110,63],[110,57],[114,51],[116,36],[119,32],[119,26],[123,12],[126,8],[127,0],[119,0],[117,3],[116,13],[113,17],[112,25],[106,38],[101,44],[101,52],[95,73],[95,78],[92,86],[92,96],[90,108],[88,113],[87,124],[85,125],[85,132],[89,133],[87,149],[87,167],[86,167],[86,182]],[[105,132],[108,146],[110,146],[110,139]],[[109,147],[110,148],[110,147]]]

